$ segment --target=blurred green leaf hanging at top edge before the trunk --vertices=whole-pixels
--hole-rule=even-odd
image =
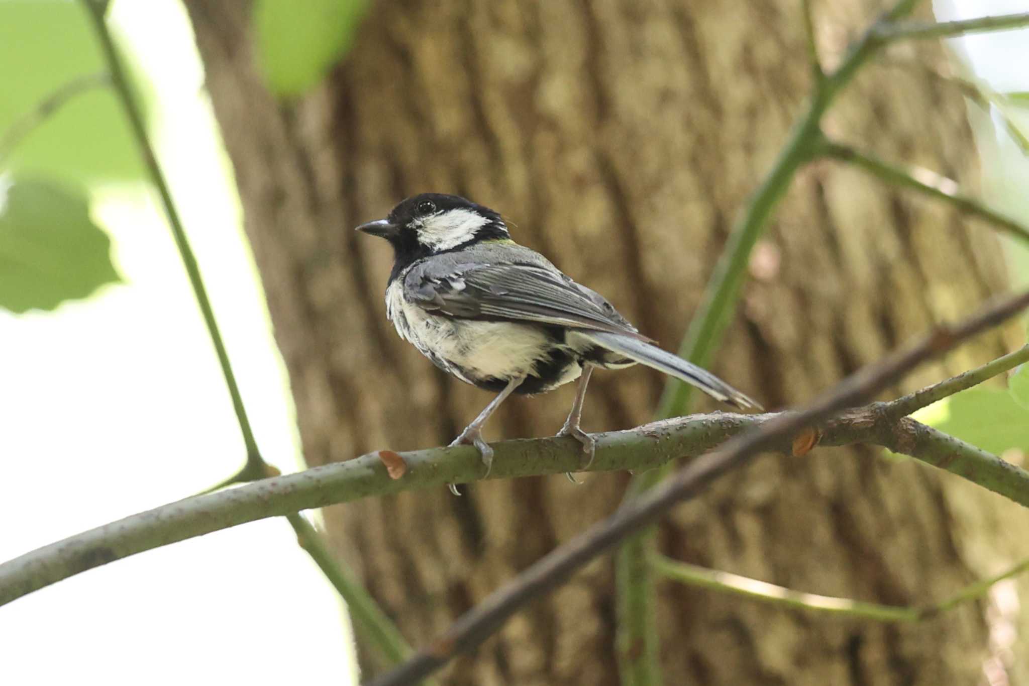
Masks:
[[[279,98],[304,95],[350,48],[366,0],[258,0],[257,59]]]

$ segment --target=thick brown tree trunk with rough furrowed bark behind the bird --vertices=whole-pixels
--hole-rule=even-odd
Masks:
[[[792,0],[409,0],[375,3],[346,62],[286,106],[255,67],[249,3],[185,4],[311,464],[443,443],[489,399],[396,337],[382,301],[387,246],[352,226],[414,192],[466,194],[674,348],[810,87]],[[882,7],[816,9],[831,60]],[[933,45],[898,56],[944,60]],[[866,69],[826,129],[972,178],[960,97],[918,69]],[[716,365],[769,407],[811,397],[1004,283],[988,229],[837,164],[805,169],[778,216]],[[979,339],[907,386],[1001,349],[1000,336]],[[596,374],[587,428],[646,421],[662,383],[640,369]],[[556,431],[571,393],[512,399],[490,435]],[[476,483],[463,498],[406,494],[335,508],[327,520],[341,554],[421,644],[610,512],[627,478]],[[675,511],[661,546],[800,589],[918,604],[1026,554],[1025,538],[1003,527],[1010,514],[999,498],[923,467],[825,452],[765,459],[725,479]],[[973,684],[998,655],[1019,683],[997,630],[1012,621],[1005,588],[1006,605],[892,626],[664,584],[666,683]],[[603,559],[458,661],[446,683],[614,684],[613,633]]]

